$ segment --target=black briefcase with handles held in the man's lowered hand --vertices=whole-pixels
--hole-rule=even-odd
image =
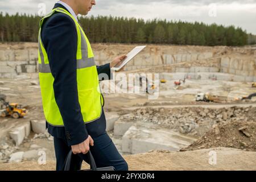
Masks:
[[[68,156],[65,159],[63,171],[70,171],[72,154],[73,154],[72,150],[69,151]],[[90,169],[83,169],[81,171],[115,171],[115,168],[113,166],[97,168],[94,158],[92,156],[92,153],[89,151],[86,155],[88,155]]]

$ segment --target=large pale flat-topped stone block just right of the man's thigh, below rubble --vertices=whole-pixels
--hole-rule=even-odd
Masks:
[[[130,154],[150,150],[179,151],[195,140],[195,138],[186,137],[171,130],[131,126],[122,137],[122,151]]]

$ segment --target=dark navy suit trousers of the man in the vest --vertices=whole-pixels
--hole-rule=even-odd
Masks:
[[[119,154],[108,133],[105,132],[97,137],[92,137],[92,139],[94,141],[94,146],[90,146],[90,151],[92,152],[97,167],[113,166],[117,171],[128,170],[128,165],[125,159],[123,159]],[[63,169],[65,158],[71,150],[71,147],[68,146],[66,139],[54,137],[54,148],[56,156],[56,170],[60,171]],[[80,170],[82,160],[89,163],[88,156],[86,154],[73,154],[71,170]]]

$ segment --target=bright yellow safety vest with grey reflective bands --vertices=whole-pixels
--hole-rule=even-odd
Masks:
[[[101,117],[102,105],[104,105],[104,99],[100,92],[97,67],[94,61],[93,51],[80,24],[68,11],[60,7],[53,9],[50,14],[40,20],[38,62],[44,116],[50,125],[64,126],[59,107],[55,101],[53,91],[54,78],[49,67],[47,52],[41,39],[41,28],[44,20],[53,15],[56,11],[69,15],[76,24],[78,39],[76,63],[74,62],[74,64],[77,65],[77,90],[79,95],[79,104],[84,122],[93,122]]]

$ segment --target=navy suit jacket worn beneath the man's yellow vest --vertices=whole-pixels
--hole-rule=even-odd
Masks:
[[[65,9],[59,3],[56,3],[53,9],[56,7]],[[77,31],[73,19],[68,15],[56,12],[44,20],[41,38],[54,77],[55,100],[64,122],[64,127],[52,126],[46,122],[49,134],[57,138],[67,138],[68,145],[72,146],[83,142],[88,138],[88,134],[96,137],[105,133],[106,119],[104,111],[102,111],[100,119],[86,125],[82,118],[78,100],[75,64]],[[98,74],[106,73],[109,78],[111,76],[110,64],[97,66],[97,71]]]

